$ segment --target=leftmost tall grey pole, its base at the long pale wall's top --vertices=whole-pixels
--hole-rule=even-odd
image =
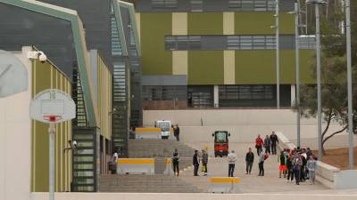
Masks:
[[[277,108],[280,108],[280,60],[279,60],[279,20],[278,20],[278,12],[279,12],[279,0],[276,0],[276,9],[275,9],[275,33],[276,33],[276,42],[277,42],[277,54],[276,54],[276,70],[277,70]]]

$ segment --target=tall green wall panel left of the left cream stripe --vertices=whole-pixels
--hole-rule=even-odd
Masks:
[[[141,13],[143,75],[172,75],[172,53],[165,51],[165,36],[172,33],[172,14]]]

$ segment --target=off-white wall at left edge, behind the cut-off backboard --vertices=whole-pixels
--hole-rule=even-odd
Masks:
[[[26,58],[29,50],[23,48],[24,53],[15,53],[28,69],[28,91],[0,99],[0,200],[27,200],[30,194],[31,62]]]

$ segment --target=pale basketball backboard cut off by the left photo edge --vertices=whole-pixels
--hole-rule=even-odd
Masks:
[[[28,89],[28,70],[11,52],[0,50],[0,98]]]

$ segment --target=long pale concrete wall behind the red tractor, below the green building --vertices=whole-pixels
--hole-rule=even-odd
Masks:
[[[253,142],[257,134],[284,132],[289,140],[296,139],[296,114],[289,109],[202,109],[202,110],[144,110],[145,126],[153,126],[155,120],[170,120],[181,127],[182,141],[211,142],[212,132],[226,130],[234,142]],[[203,126],[201,126],[201,119]],[[301,137],[317,136],[317,120],[302,118]],[[331,124],[330,131],[340,130],[339,124]],[[309,144],[313,145],[315,140]]]

